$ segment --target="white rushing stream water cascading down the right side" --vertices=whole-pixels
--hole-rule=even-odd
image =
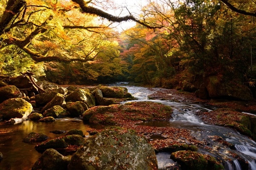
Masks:
[[[160,90],[159,88],[143,88],[143,87],[134,87],[134,86],[126,86],[128,88],[128,92],[131,93],[137,100],[135,101],[150,101],[150,102],[159,102],[164,105],[169,105],[174,109],[172,114],[172,119],[170,119],[169,124],[166,126],[172,126],[176,128],[186,128],[192,131],[192,134],[198,140],[209,140],[208,136],[221,136],[227,142],[231,144],[235,144],[237,154],[243,157],[249,163],[248,170],[256,170],[256,143],[246,136],[242,136],[232,129],[228,129],[225,127],[214,126],[214,125],[206,125],[197,116],[195,116],[195,112],[198,111],[212,111],[214,108],[207,108],[204,105],[200,104],[191,104],[191,103],[182,103],[182,102],[171,102],[168,100],[150,100],[148,99],[149,94],[154,93],[154,89],[156,91]],[[212,140],[211,140],[212,142]],[[218,145],[216,143],[211,143],[212,146]],[[231,150],[232,152],[236,152],[236,150]],[[227,157],[225,150],[219,150],[216,154],[217,157]],[[168,153],[160,153],[157,154],[158,167],[161,170],[167,169],[169,164],[172,164],[173,161],[169,159]],[[231,157],[228,157],[232,159]],[[234,159],[229,162],[226,161],[225,164],[226,170],[242,170],[237,159]]]

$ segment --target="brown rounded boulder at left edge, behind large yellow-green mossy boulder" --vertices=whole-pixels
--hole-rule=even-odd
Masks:
[[[0,88],[0,103],[6,99],[17,97],[22,97],[22,94],[15,85],[8,85]]]

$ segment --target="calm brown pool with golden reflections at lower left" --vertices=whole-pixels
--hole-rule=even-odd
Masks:
[[[61,136],[61,134],[49,133],[51,130],[79,129],[88,135],[88,125],[79,119],[57,119],[55,122],[25,121],[17,125],[0,124],[0,152],[3,160],[0,162],[0,170],[28,170],[41,156],[35,150],[38,143],[24,143],[22,139],[29,133],[43,133],[49,138]]]

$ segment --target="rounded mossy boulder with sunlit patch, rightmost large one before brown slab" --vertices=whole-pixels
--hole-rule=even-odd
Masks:
[[[88,89],[76,89],[66,97],[67,102],[84,102],[89,108],[95,106],[95,98]]]

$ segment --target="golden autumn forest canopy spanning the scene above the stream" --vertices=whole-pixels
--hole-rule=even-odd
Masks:
[[[111,0],[6,0],[0,9],[1,75],[190,90],[214,75],[254,86],[252,0],[147,0],[137,14]],[[125,21],[137,24],[116,31]]]

